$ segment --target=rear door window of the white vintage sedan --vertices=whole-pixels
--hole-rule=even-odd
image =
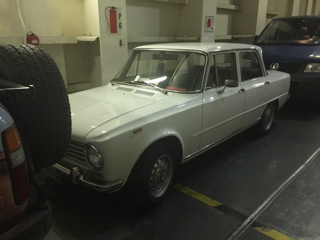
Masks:
[[[262,70],[256,52],[239,52],[241,81],[262,77]]]

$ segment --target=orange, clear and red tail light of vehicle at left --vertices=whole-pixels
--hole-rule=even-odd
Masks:
[[[24,155],[20,135],[16,126],[4,134],[8,154],[9,172],[14,203],[22,204],[28,198],[29,180],[26,157]]]

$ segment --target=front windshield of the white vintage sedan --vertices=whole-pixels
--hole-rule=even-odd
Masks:
[[[206,56],[199,52],[134,50],[112,82],[180,92],[201,89]]]

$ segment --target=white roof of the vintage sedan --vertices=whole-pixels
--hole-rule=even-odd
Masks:
[[[257,49],[260,52],[260,47],[250,44],[236,43],[165,43],[151,44],[136,47],[135,49],[174,49],[174,50],[193,50],[201,52],[218,52],[235,49]]]

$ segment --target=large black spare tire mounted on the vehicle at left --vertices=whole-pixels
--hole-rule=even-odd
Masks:
[[[71,113],[57,64],[40,47],[4,45],[0,46],[0,76],[35,86],[35,95],[15,94],[19,122],[35,169],[60,161],[71,138]]]

